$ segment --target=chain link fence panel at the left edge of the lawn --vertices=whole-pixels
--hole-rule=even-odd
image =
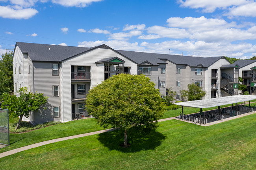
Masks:
[[[9,145],[9,144],[10,144],[10,140],[9,140],[8,110],[0,109],[0,145]]]

